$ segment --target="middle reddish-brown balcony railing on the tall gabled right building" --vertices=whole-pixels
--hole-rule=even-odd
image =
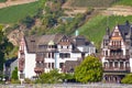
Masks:
[[[106,56],[106,59],[129,59],[130,55],[111,55],[111,56]]]

